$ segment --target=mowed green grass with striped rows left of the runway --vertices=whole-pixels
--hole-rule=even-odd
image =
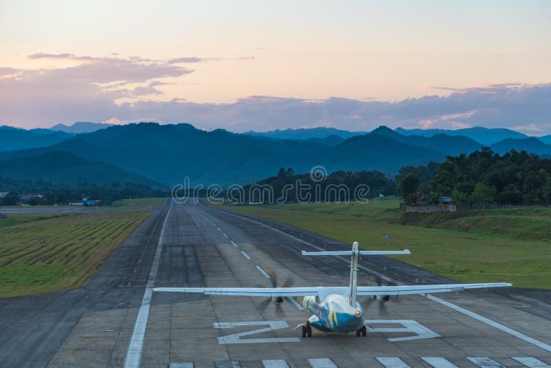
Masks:
[[[80,287],[150,214],[8,214],[0,221],[0,297]]]

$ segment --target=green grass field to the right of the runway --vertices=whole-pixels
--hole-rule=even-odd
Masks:
[[[551,289],[551,211],[491,209],[404,216],[396,199],[380,203],[306,203],[229,207],[365,249],[404,249],[396,256],[466,283],[511,282]],[[430,227],[428,227],[430,226]],[[385,234],[391,238],[385,239]]]

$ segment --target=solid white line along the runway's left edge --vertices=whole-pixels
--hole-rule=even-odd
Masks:
[[[136,317],[136,323],[134,323],[134,331],[132,331],[132,337],[128,343],[126,350],[126,356],[124,360],[124,368],[138,368],[141,365],[143,354],[143,338],[145,337],[145,329],[147,327],[147,319],[149,318],[149,307],[151,305],[151,298],[153,294],[153,287],[155,278],[157,276],[157,269],[160,263],[160,253],[163,249],[163,238],[165,237],[165,229],[167,228],[167,220],[172,209],[172,201],[170,201],[170,207],[163,221],[163,227],[160,229],[159,241],[157,243],[157,249],[155,251],[155,258],[149,272],[149,278],[147,280],[147,286],[143,293],[142,304]]]

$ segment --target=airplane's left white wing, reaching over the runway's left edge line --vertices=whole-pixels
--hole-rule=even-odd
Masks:
[[[308,296],[318,295],[319,287],[155,287],[154,292],[203,293],[235,296]],[[342,292],[346,287],[330,287]]]

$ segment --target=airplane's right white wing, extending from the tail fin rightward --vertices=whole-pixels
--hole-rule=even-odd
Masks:
[[[446,292],[462,292],[467,289],[486,289],[487,287],[512,286],[510,283],[486,284],[444,284],[444,285],[406,285],[406,286],[359,286],[357,295],[411,295]]]

